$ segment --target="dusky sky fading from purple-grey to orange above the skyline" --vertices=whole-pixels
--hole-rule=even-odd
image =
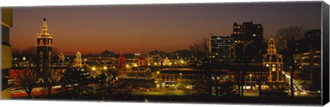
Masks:
[[[261,23],[265,38],[278,29],[302,25],[320,29],[321,2],[98,5],[14,8],[10,44],[35,46],[43,18],[54,34],[54,48],[65,55],[80,51],[115,53],[172,52],[197,39],[232,34],[234,22]]]

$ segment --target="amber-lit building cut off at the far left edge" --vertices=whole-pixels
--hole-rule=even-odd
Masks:
[[[9,43],[9,32],[12,27],[12,9],[1,8],[1,93],[0,99],[10,99],[8,84],[9,69],[12,68],[12,46]]]

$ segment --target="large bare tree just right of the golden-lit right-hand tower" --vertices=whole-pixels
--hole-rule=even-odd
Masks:
[[[294,71],[296,71],[296,61],[294,60],[295,52],[296,52],[296,41],[304,38],[306,29],[303,26],[289,26],[284,29],[279,29],[276,32],[276,39],[279,46],[279,49],[287,48],[287,56],[285,60],[287,60],[288,67],[290,69],[291,78],[290,78],[290,87],[291,87],[291,95],[294,97]],[[285,47],[287,46],[287,47]]]

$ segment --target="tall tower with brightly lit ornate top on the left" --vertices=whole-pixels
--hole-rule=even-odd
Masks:
[[[43,19],[41,33],[36,34],[36,69],[41,76],[51,71],[53,61],[53,34],[48,33],[46,19]],[[42,78],[42,77],[41,77]],[[40,78],[39,78],[40,80]]]

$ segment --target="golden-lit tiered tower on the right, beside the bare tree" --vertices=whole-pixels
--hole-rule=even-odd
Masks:
[[[270,38],[268,42],[267,54],[263,56],[263,66],[266,71],[269,71],[268,82],[283,81],[283,57],[276,51],[275,41]]]

